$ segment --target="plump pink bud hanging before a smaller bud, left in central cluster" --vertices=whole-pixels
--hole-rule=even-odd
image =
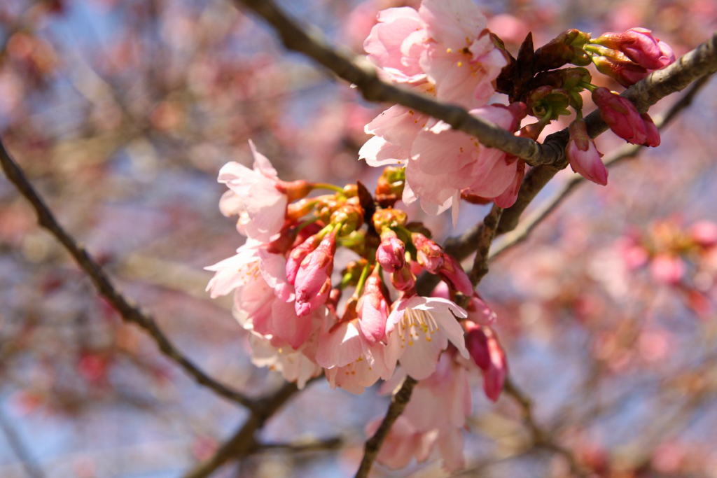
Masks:
[[[336,232],[327,234],[313,252],[304,257],[296,274],[296,315],[302,317],[326,302],[331,292]]]

